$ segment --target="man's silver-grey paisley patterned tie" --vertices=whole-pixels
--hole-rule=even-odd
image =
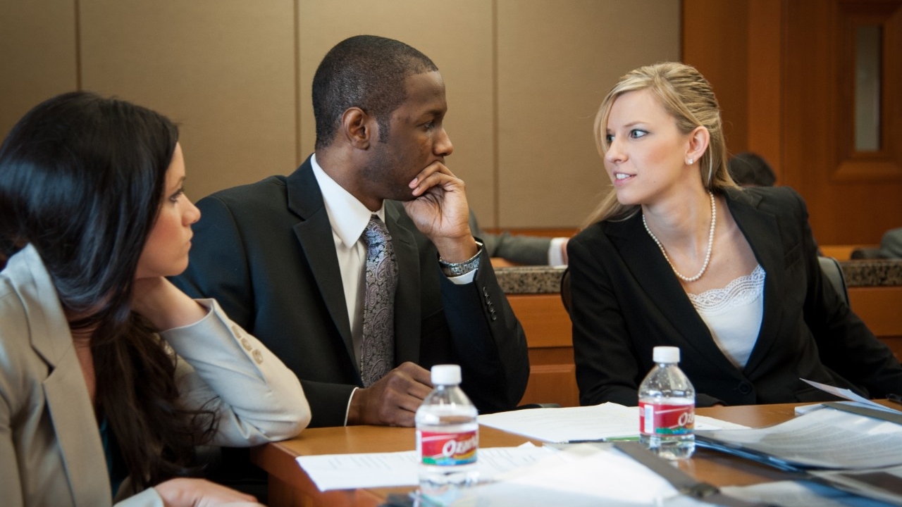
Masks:
[[[394,364],[394,292],[398,263],[389,230],[373,215],[361,236],[366,244],[364,336],[360,344],[360,376],[364,387],[389,373]]]

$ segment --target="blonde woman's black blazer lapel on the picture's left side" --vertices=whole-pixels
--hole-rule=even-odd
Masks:
[[[683,354],[704,357],[717,368],[732,367],[641,221],[641,215],[637,214],[623,222],[611,223],[608,235],[620,245],[624,263],[651,300],[649,308],[656,309],[659,317],[669,324],[668,335],[679,342]]]

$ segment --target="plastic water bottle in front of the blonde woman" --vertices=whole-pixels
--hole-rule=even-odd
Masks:
[[[679,363],[679,348],[656,346],[655,367],[639,386],[640,442],[658,456],[685,459],[695,452],[695,388]]]

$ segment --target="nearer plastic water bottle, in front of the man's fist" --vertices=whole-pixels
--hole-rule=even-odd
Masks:
[[[429,393],[417,409],[419,491],[438,504],[453,502],[461,488],[475,484],[479,424],[476,407],[461,391],[460,366],[432,367]]]

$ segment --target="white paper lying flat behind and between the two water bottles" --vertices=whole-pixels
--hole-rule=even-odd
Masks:
[[[591,407],[511,410],[479,416],[479,423],[546,442],[603,441],[639,436],[639,409],[617,403]],[[695,416],[695,429],[744,429],[741,424]]]

